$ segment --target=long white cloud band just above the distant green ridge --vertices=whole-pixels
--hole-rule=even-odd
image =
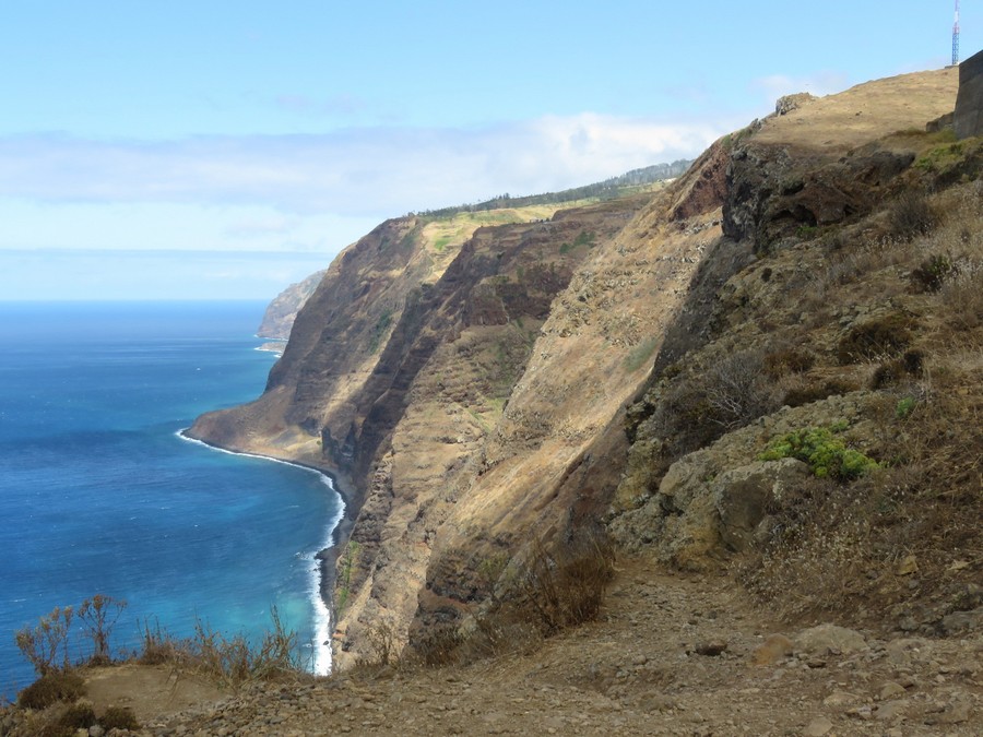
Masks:
[[[153,143],[8,136],[0,139],[0,198],[381,218],[505,191],[575,187],[692,157],[727,130],[583,114],[476,129],[363,128]]]

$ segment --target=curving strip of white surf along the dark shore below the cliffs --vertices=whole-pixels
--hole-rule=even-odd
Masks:
[[[317,657],[315,658],[312,666],[315,675],[329,675],[333,665],[332,635],[336,626],[336,615],[334,610],[334,576],[335,564],[339,558],[339,540],[343,535],[351,534],[352,527],[354,526],[354,519],[352,519],[348,513],[348,510],[351,509],[348,497],[344,491],[341,490],[341,485],[339,483],[337,477],[340,474],[333,471],[329,471],[328,468],[318,467],[310,463],[288,461],[286,459],[276,457],[274,455],[267,455],[263,453],[256,453],[250,451],[236,451],[224,448],[216,443],[209,442],[208,440],[202,440],[201,438],[196,438],[188,435],[188,430],[190,429],[190,427],[186,427],[181,430],[176,431],[175,436],[186,442],[203,445],[209,450],[217,451],[220,453],[227,453],[229,455],[242,455],[246,457],[260,459],[262,461],[271,461],[273,463],[282,463],[284,465],[295,466],[297,468],[303,468],[305,471],[316,473],[321,476],[324,486],[327,486],[331,491],[337,495],[341,507],[337,514],[332,520],[328,521],[325,527],[327,534],[322,543],[322,547],[313,555],[313,560],[318,561],[318,566],[316,569],[312,569],[317,570],[318,573],[318,581],[316,582],[313,591],[311,592],[312,594],[317,593],[317,596],[313,597],[316,599],[315,629]]]

